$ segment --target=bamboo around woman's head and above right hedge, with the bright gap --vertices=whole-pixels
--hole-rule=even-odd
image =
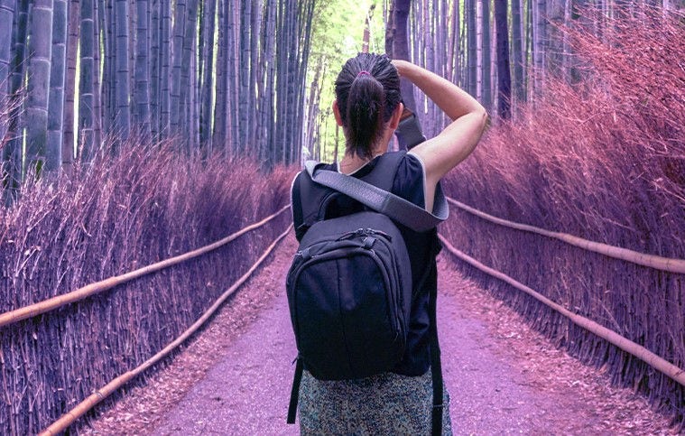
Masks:
[[[647,3],[663,11],[683,7],[670,0]],[[502,118],[518,119],[523,107],[540,100],[546,80],[579,86],[587,79],[588,69],[574,52],[571,33],[588,32],[603,39],[609,21],[639,14],[645,2],[384,0],[371,4],[366,19],[373,17],[375,34],[371,32],[369,51],[412,60],[446,77],[477,97],[497,123]],[[359,23],[363,17],[358,17]],[[329,42],[330,26],[321,25],[320,20],[315,14],[313,38]],[[357,50],[361,49],[363,32],[352,36],[358,41]],[[316,159],[329,159],[341,150],[340,133],[326,100],[332,98],[332,91],[322,89],[333,82],[343,61],[339,53],[312,53],[304,147]],[[403,87],[403,98],[420,116],[427,136],[437,134],[448,122],[438,107],[411,86]]]

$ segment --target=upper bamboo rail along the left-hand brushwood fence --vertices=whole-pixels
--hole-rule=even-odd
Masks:
[[[223,239],[219,239],[217,242],[209,244],[208,246],[200,247],[196,250],[190,251],[183,255],[177,255],[169,259],[162,260],[161,262],[157,262],[155,264],[143,266],[142,268],[139,268],[126,274],[116,275],[114,277],[106,278],[105,280],[102,280],[100,282],[90,283],[86,286],[77,289],[76,291],[58,295],[48,300],[39,301],[31,305],[15,309],[14,311],[1,313],[0,328],[20,320],[25,320],[27,318],[40,315],[48,311],[54,311],[55,309],[59,309],[62,306],[66,306],[67,304],[70,304],[75,301],[84,300],[99,292],[104,292],[106,290],[112,289],[115,286],[118,286],[119,284],[130,282],[134,279],[137,279],[138,277],[142,277],[143,275],[152,274],[162,269],[169,268],[170,266],[173,266],[175,264],[181,264],[183,262],[189,261],[190,259],[194,259],[195,257],[198,257],[200,255],[205,255],[210,251],[216,250],[221,246],[227,245],[229,242],[235,240],[237,237],[241,237],[245,233],[254,230],[255,228],[264,226],[264,224],[268,223],[273,218],[276,218],[277,216],[281,215],[286,209],[289,208],[290,205],[285,206],[273,215],[266,217],[263,220],[256,222],[255,224],[251,224],[250,226],[247,226],[232,235],[224,237]]]

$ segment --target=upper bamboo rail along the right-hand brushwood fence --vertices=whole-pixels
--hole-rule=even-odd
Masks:
[[[588,239],[583,239],[581,237],[574,237],[568,233],[551,232],[550,230],[545,230],[540,227],[528,226],[526,224],[516,223],[503,218],[497,218],[492,215],[488,215],[485,212],[471,208],[470,206],[467,206],[456,199],[451,199],[448,197],[447,200],[449,203],[457,206],[459,209],[466,210],[468,213],[476,215],[478,218],[486,219],[487,221],[500,226],[536,233],[545,237],[552,237],[554,239],[559,239],[560,241],[571,246],[578,246],[579,248],[592,251],[600,255],[606,255],[615,259],[625,260],[626,262],[647,266],[656,270],[665,271],[667,273],[685,274],[685,260],[683,259],[662,257],[658,255],[647,255],[637,251],[629,250],[627,248],[622,248],[620,246],[609,246],[600,242],[589,241]]]

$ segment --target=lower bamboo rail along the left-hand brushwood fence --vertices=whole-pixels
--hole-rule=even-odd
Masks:
[[[287,209],[287,208],[284,208]],[[272,218],[281,211],[277,212],[275,215],[272,215]],[[148,369],[150,366],[153,366],[154,364],[158,363],[162,358],[166,357],[171,353],[171,351],[174,348],[177,348],[178,346],[181,345],[186,339],[190,338],[191,335],[193,335],[201,326],[202,324],[205,323],[209,318],[211,318],[212,315],[214,315],[214,312],[218,310],[218,308],[221,306],[221,304],[226,301],[228,297],[230,297],[236,290],[247,281],[248,278],[250,278],[250,275],[252,275],[255,270],[257,269],[258,266],[264,262],[264,259],[271,254],[273,251],[273,248],[275,248],[276,245],[282,240],[283,237],[288,236],[288,234],[292,230],[292,224],[288,226],[288,228],[278,237],[276,237],[273,240],[273,243],[271,246],[268,246],[266,250],[264,251],[264,254],[262,254],[259,259],[255,262],[255,264],[250,267],[249,270],[245,274],[243,274],[236,283],[233,283],[233,285],[227,289],[226,292],[224,292],[217,301],[214,302],[214,304],[211,305],[211,307],[205,311],[205,313],[199,318],[199,320],[195,321],[188,329],[186,329],[181,336],[178,338],[174,339],[167,345],[166,347],[162,348],[162,351],[159,353],[155,354],[153,357],[150,357],[147,359],[145,362],[143,362],[142,365],[135,367],[131,371],[125,372],[123,375],[116,377],[114,380],[111,382],[107,383],[105,386],[103,386],[101,389],[97,390],[95,393],[90,394],[88,398],[83,400],[81,403],[79,403],[76,407],[71,409],[68,413],[63,414],[59,420],[52,422],[50,426],[48,426],[45,430],[41,431],[40,436],[50,436],[53,434],[58,434],[61,431],[64,431],[71,425],[73,422],[78,420],[81,416],[83,416],[85,413],[87,413],[90,409],[95,407],[96,404],[100,403],[102,400],[104,400],[107,396],[110,394],[114,393],[119,387],[125,385],[128,383],[131,379],[133,379],[136,376],[139,376],[143,371]]]

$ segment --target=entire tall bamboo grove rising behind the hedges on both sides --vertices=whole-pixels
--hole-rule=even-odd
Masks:
[[[16,189],[27,172],[69,171],[74,159],[116,153],[132,134],[143,142],[172,137],[186,154],[248,154],[267,168],[299,162],[303,148],[329,156],[326,147],[340,139],[321,126],[330,117],[321,88],[339,67],[317,54],[309,69],[309,60],[322,39],[312,27],[339,3],[0,0],[0,104],[12,108],[0,123],[4,186]],[[634,5],[384,0],[376,13],[384,46],[372,42],[371,50],[458,83],[496,120],[534,101],[545,74],[580,81],[563,27],[601,34],[606,18],[632,14]],[[361,32],[352,36],[361,48]],[[426,134],[437,133],[447,121],[440,110],[404,94]]]

